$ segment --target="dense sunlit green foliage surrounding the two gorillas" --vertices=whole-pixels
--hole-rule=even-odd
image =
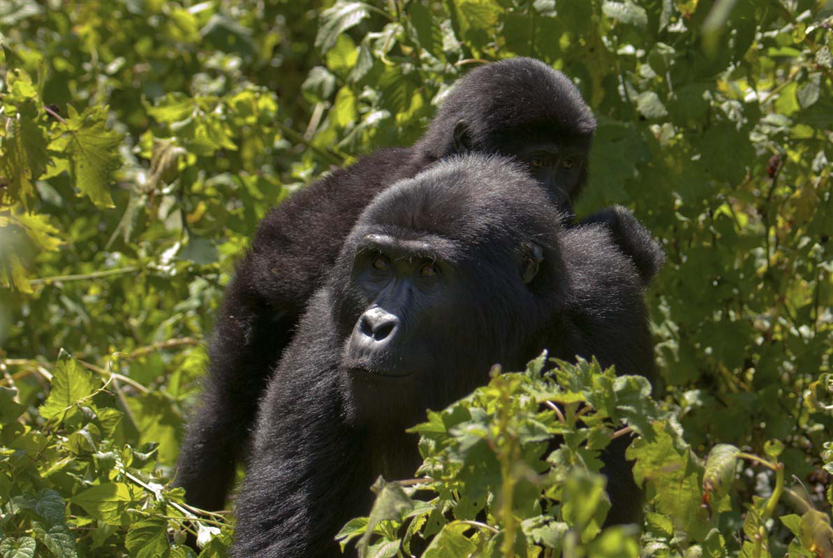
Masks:
[[[3,0],[0,556],[194,556],[186,531],[223,556],[227,514],[170,481],[258,219],[516,55],[598,118],[579,214],[625,204],[665,247],[666,386],[543,357],[493,376],[416,426],[418,478],[378,481],[342,535],[379,557],[833,556],[831,28],[822,0]],[[601,531],[598,452],[631,431],[650,511]]]

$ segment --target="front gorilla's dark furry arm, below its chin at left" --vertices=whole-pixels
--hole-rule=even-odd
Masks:
[[[264,399],[237,499],[234,558],[342,556],[333,535],[370,507],[364,438],[342,418],[324,294],[313,297]]]

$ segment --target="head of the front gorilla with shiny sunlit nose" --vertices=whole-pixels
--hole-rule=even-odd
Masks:
[[[495,362],[522,366],[562,292],[559,223],[545,190],[499,157],[456,157],[382,192],[331,283],[357,420],[402,428]]]

